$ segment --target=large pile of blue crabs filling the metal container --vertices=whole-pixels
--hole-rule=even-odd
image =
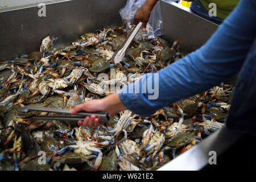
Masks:
[[[113,64],[126,36],[122,26],[109,26],[60,48],[47,36],[39,51],[1,62],[1,75],[7,74],[0,77],[0,170],[154,170],[224,125],[233,92],[229,83],[147,118],[122,111],[97,128],[31,120],[54,114],[17,111],[27,105],[71,109],[108,96],[102,85],[129,85],[126,80],[138,81],[184,56],[177,39],[170,44],[155,37],[133,41],[122,61]],[[108,79],[99,78],[101,73]]]

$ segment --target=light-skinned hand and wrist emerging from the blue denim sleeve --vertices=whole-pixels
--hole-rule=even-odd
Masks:
[[[119,113],[122,110],[126,110],[126,107],[119,100],[118,93],[111,94],[108,97],[97,99],[97,100],[89,100],[84,104],[80,104],[75,106],[70,110],[70,114],[77,114],[80,111],[108,111],[110,115],[114,115]],[[84,121],[80,120],[77,122],[77,125],[81,126],[89,126],[89,127],[97,127],[100,126],[100,118],[96,117],[96,115],[91,115],[90,117],[86,117]]]

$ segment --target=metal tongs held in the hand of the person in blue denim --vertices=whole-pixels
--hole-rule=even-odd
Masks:
[[[50,107],[35,107],[35,106],[25,106],[18,109],[19,112],[26,113],[28,111],[42,111],[48,113],[59,113],[59,114],[69,114],[69,109],[56,109]],[[108,123],[110,119],[110,114],[106,111],[99,111],[99,112],[79,112],[77,114],[69,114],[69,115],[39,115],[31,117],[31,119],[53,119],[53,120],[63,120],[63,121],[79,121],[84,120],[86,116],[96,115],[100,117],[100,123]]]

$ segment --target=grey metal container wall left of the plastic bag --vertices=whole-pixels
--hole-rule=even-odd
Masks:
[[[73,0],[46,3],[46,17],[38,4],[0,10],[0,61],[39,51],[47,35],[59,38],[56,47],[67,46],[82,32],[122,23],[118,13],[126,1]]]

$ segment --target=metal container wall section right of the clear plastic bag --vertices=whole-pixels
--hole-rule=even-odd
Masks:
[[[164,26],[163,38],[170,43],[178,38],[179,46],[185,53],[203,46],[218,28],[216,22],[202,18],[175,2],[163,0],[160,5]]]

